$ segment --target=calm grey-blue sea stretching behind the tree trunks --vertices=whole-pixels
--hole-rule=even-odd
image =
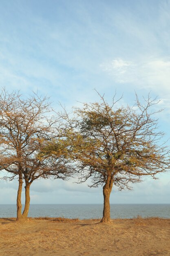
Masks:
[[[24,205],[23,205],[24,208]],[[29,217],[102,218],[103,204],[31,204]],[[157,216],[170,218],[170,204],[110,204],[110,216],[134,218]],[[0,204],[0,218],[16,217],[15,204]]]

